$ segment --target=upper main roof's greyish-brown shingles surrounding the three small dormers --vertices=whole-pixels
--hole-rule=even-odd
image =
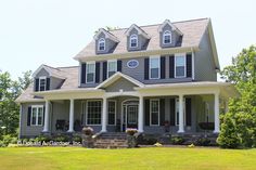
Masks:
[[[181,45],[178,48],[190,49],[190,48],[199,47],[201,42],[201,38],[204,35],[205,30],[207,29],[208,23],[209,23],[209,18],[199,18],[199,19],[171,23],[175,27],[177,27],[177,29],[179,29],[183,34]],[[158,28],[162,24],[140,26],[140,28],[143,29],[143,31],[145,31],[150,37],[149,44],[146,45],[146,49],[144,50],[144,52],[168,50],[168,48],[162,49],[162,47],[159,45]],[[121,29],[115,29],[115,30],[110,31],[119,40],[119,43],[114,49],[113,53],[110,53],[110,55],[121,55],[121,54],[128,53],[127,36],[126,36],[126,32],[128,29],[129,28],[121,28]],[[92,40],[74,58],[78,61],[85,61],[86,58],[94,57],[97,55],[98,54],[95,53],[95,42],[94,40]],[[107,54],[104,54],[104,56],[105,55]]]

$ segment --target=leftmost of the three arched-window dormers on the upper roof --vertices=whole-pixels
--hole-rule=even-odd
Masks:
[[[95,53],[97,54],[106,54],[112,53],[119,42],[119,40],[112,35],[110,31],[101,28],[94,36],[95,41]]]

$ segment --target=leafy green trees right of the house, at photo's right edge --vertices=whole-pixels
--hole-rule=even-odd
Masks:
[[[221,77],[233,83],[241,94],[241,97],[230,101],[229,114],[223,116],[223,120],[230,118],[234,122],[236,128],[230,133],[241,138],[240,147],[256,147],[256,47],[243,49],[232,58],[232,65],[223,68]],[[231,135],[227,134],[227,128],[232,127],[223,121],[219,139]]]

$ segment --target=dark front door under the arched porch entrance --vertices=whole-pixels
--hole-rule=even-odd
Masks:
[[[138,105],[127,105],[127,128],[138,128]]]

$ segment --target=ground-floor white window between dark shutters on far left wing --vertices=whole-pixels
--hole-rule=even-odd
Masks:
[[[43,120],[43,106],[31,106],[31,126],[42,126]]]

